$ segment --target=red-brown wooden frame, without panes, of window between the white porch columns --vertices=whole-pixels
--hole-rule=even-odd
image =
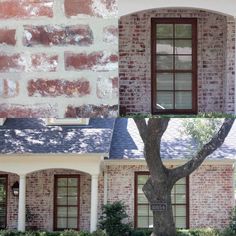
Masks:
[[[58,191],[58,179],[60,178],[77,178],[78,179],[78,185],[77,185],[77,228],[73,228],[73,230],[80,230],[80,175],[75,174],[75,175],[54,175],[54,204],[53,204],[53,229],[54,231],[62,231],[65,229],[57,228],[57,191]],[[67,186],[68,188],[68,186]],[[66,207],[70,207],[70,205],[66,205]],[[74,205],[72,206],[74,207]]]

